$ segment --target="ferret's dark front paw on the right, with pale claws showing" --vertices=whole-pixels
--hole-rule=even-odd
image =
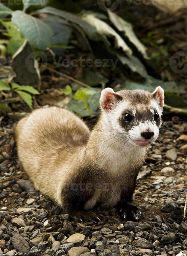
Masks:
[[[142,213],[135,205],[135,203],[129,202],[120,209],[120,216],[124,220],[141,221]]]

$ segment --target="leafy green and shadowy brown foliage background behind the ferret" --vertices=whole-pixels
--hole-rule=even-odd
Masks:
[[[103,88],[158,85],[165,110],[186,115],[185,8],[162,13],[128,0],[110,11],[102,0],[9,0],[0,3],[0,18],[3,118],[49,105],[94,117]]]

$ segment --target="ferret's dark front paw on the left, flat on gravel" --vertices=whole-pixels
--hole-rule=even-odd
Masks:
[[[71,215],[74,222],[99,222],[101,216],[92,211],[77,211]]]

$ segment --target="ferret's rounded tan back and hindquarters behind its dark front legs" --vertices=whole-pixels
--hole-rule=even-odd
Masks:
[[[34,110],[16,126],[17,152],[29,179],[61,206],[61,186],[89,134],[82,120],[57,107]]]

